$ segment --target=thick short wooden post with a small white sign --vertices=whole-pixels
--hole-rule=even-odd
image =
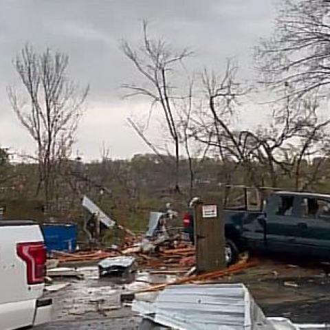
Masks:
[[[217,204],[196,203],[194,208],[197,273],[225,268],[224,221]]]

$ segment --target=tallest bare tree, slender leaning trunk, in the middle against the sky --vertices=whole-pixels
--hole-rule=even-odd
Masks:
[[[179,135],[175,119],[175,100],[182,96],[175,95],[173,75],[177,66],[192,53],[187,49],[175,53],[162,39],[152,39],[148,36],[147,23],[143,22],[143,41],[139,50],[134,50],[128,42],[122,42],[122,51],[132,61],[145,82],[140,85],[125,84],[129,89],[127,97],[146,96],[151,100],[151,107],[159,107],[164,114],[166,126],[175,148],[175,191],[179,192]]]

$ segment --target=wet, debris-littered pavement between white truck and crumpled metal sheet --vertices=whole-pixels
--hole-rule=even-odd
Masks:
[[[54,301],[54,318],[38,330],[137,329],[140,317],[120,304],[120,294],[131,280],[123,278],[59,278],[69,282],[58,292],[46,293]]]

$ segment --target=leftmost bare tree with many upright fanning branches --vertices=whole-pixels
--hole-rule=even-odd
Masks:
[[[18,90],[8,87],[14,112],[37,144],[39,185],[46,205],[54,196],[56,177],[69,157],[83,103],[89,87],[80,89],[67,77],[69,57],[46,49],[42,53],[25,45],[14,67],[21,78],[27,102],[21,102]]]

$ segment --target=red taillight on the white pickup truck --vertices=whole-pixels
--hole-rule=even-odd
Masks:
[[[43,283],[47,259],[43,242],[18,243],[17,254],[26,263],[28,284]]]

